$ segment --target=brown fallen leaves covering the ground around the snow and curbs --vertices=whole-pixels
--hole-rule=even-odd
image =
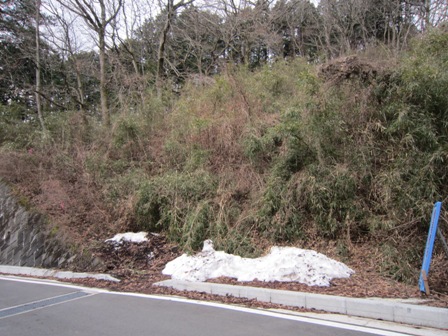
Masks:
[[[356,271],[354,275],[347,279],[334,279],[329,287],[310,287],[292,282],[238,282],[235,279],[230,278],[218,278],[210,280],[210,282],[359,298],[424,298],[426,299],[425,304],[448,308],[447,293],[440,292],[436,288],[433,288],[432,293],[429,296],[422,296],[417,285],[403,284],[379,275],[374,269],[372,260],[366,259],[367,250],[368,246],[364,246],[357,248],[356,252],[354,251],[352,256],[353,261],[348,263],[348,265]],[[162,270],[167,262],[178,257],[180,254],[181,252],[178,248],[175,245],[168,243],[162,235],[150,235],[147,242],[140,244],[123,243],[118,248],[105,243],[97,250],[97,255],[105,260],[107,273],[120,278],[121,282],[108,283],[90,279],[77,280],[77,282],[89,286],[105,287],[111,290],[141,292],[147,294],[175,294],[194,299],[241,303],[250,306],[277,306],[257,303],[254,300],[219,297],[205,293],[179,292],[172,289],[153,286],[153,283],[169,278],[162,275]]]

